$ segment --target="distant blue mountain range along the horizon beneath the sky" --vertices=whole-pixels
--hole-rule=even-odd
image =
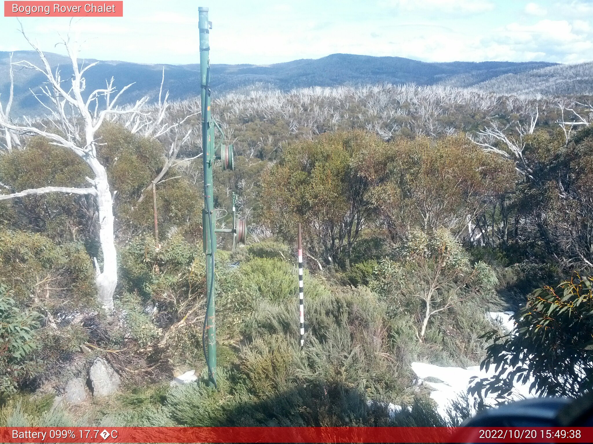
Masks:
[[[69,59],[65,56],[47,53],[53,67],[59,65],[62,79],[72,75]],[[0,100],[6,101],[8,94],[9,53],[0,52]],[[18,51],[13,61],[28,60],[39,63],[37,53]],[[92,63],[96,60],[85,60]],[[557,80],[562,85],[564,76],[572,75],[580,80],[570,82],[570,92],[584,92],[591,89],[591,64],[576,72],[573,66],[557,65],[547,62],[450,62],[426,63],[403,57],[372,57],[353,54],[331,54],[321,59],[302,59],[273,65],[212,65],[211,86],[213,92],[222,93],[263,84],[265,87],[288,90],[307,86],[358,85],[361,83],[416,83],[435,85],[437,83],[492,88],[495,91],[510,93],[517,87],[529,92],[537,92],[537,82],[545,78],[546,84]],[[114,77],[119,88],[136,82],[125,98],[133,102],[144,95],[152,99],[158,97],[162,68],[165,69],[164,88],[170,91],[171,99],[184,99],[199,94],[199,65],[144,65],[140,63],[104,61],[86,73],[87,94],[105,85],[106,79]],[[578,65],[581,66],[581,65]],[[546,71],[547,70],[547,71]],[[544,72],[542,75],[538,73]],[[555,80],[554,80],[555,79]],[[566,79],[565,79],[566,80]],[[44,81],[43,75],[32,69],[16,67],[14,114],[39,114],[43,108],[31,95],[30,89],[37,88]],[[525,84],[528,82],[528,85]],[[505,89],[504,85],[509,83]],[[515,88],[515,89],[514,89]],[[548,88],[549,89],[549,88]],[[562,88],[555,88],[560,91]],[[507,91],[508,90],[508,91]],[[559,94],[563,94],[559,92]]]

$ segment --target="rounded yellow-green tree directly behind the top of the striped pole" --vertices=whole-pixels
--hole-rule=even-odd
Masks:
[[[349,267],[352,245],[371,210],[369,183],[359,175],[356,160],[383,145],[372,134],[352,131],[289,146],[262,176],[263,220],[291,241],[301,222],[312,253],[326,262],[342,255]]]

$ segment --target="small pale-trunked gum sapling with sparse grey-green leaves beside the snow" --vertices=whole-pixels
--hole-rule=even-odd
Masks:
[[[467,362],[479,353],[478,337],[488,327],[479,305],[496,285],[492,269],[483,262],[471,266],[466,250],[443,229],[412,231],[397,258],[381,260],[369,286],[397,322],[400,347],[414,350],[410,335],[415,334],[426,343],[416,353],[433,362]],[[409,323],[401,325],[401,318]]]

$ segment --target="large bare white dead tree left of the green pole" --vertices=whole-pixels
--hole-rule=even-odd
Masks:
[[[46,186],[37,189],[25,189],[8,195],[0,195],[0,200],[7,200],[16,197],[23,197],[32,194],[46,194],[50,192],[63,192],[74,194],[90,194],[95,197],[94,202],[97,207],[99,223],[99,240],[101,251],[103,252],[103,269],[101,270],[97,258],[93,258],[95,263],[95,277],[98,290],[98,300],[109,312],[113,310],[113,293],[117,285],[117,252],[113,235],[113,195],[111,194],[109,181],[107,179],[107,170],[101,164],[97,157],[97,148],[100,143],[97,141],[96,133],[103,124],[108,115],[112,114],[135,114],[144,104],[146,98],[142,98],[133,107],[127,107],[125,110],[116,107],[117,101],[126,89],[133,83],[122,88],[112,98],[116,92],[113,86],[113,78],[103,89],[97,89],[91,92],[87,99],[82,94],[85,90],[84,74],[88,69],[97,65],[98,62],[89,65],[79,65],[77,57],[77,45],[71,42],[70,38],[63,40],[66,52],[72,63],[73,75],[70,81],[60,78],[60,71],[52,70],[47,57],[39,47],[32,43],[25,35],[21,27],[21,33],[39,54],[42,65],[37,66],[26,60],[14,63],[17,66],[23,66],[34,69],[43,74],[47,79],[41,87],[42,93],[36,94],[36,98],[43,105],[49,114],[46,116],[47,124],[43,129],[33,125],[23,126],[13,124],[0,116],[0,128],[8,130],[13,134],[42,136],[55,146],[61,146],[72,150],[78,155],[93,172],[93,178],[87,178],[90,183],[88,188],[68,188],[58,186]],[[68,85],[65,86],[65,85]],[[67,88],[67,89],[66,89]],[[44,102],[40,97],[44,97]],[[99,99],[104,99],[104,108],[100,110]],[[94,108],[91,111],[91,108]],[[51,128],[55,127],[56,130]]]

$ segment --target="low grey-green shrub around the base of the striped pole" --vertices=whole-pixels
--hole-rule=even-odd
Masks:
[[[394,399],[400,394],[409,369],[394,359],[392,327],[385,317],[384,304],[368,289],[334,289],[314,298],[305,295],[305,361],[299,357],[299,350],[292,348],[297,347],[298,342],[297,313],[297,298],[282,305],[269,301],[256,303],[253,316],[245,326],[245,334],[254,340],[242,356],[251,356],[249,353],[256,349],[259,355],[284,356],[282,365],[267,364],[279,372],[280,379],[284,378],[280,374],[285,371],[288,374],[297,371],[311,381],[320,378],[358,390],[373,399]],[[269,339],[270,334],[275,339]],[[275,355],[275,350],[280,354]],[[292,358],[289,358],[291,353]],[[288,369],[281,369],[286,366]],[[259,364],[256,367],[259,368]],[[245,371],[243,369],[241,374]],[[270,377],[261,376],[261,384],[268,384],[265,381]],[[278,384],[281,386],[284,382]]]

